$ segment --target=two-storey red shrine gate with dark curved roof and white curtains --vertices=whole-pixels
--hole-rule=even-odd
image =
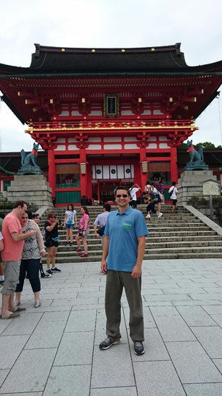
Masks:
[[[119,184],[178,179],[176,148],[217,94],[222,62],[189,67],[175,46],[60,49],[0,64],[4,101],[48,151],[57,205],[113,200]],[[166,187],[167,190],[167,187]],[[167,200],[167,193],[166,193]]]

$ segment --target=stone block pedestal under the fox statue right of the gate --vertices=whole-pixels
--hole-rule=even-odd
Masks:
[[[177,200],[179,205],[187,205],[192,196],[203,196],[203,184],[201,182],[213,179],[213,171],[185,171],[181,173],[178,184]]]

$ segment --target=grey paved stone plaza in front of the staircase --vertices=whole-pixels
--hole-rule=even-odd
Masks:
[[[221,396],[222,262],[145,260],[146,353],[134,355],[122,297],[122,342],[105,338],[100,263],[68,263],[41,282],[33,308],[28,280],[21,318],[0,320],[1,395]]]

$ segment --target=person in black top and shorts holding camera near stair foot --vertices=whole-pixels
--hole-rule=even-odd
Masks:
[[[56,213],[50,212],[48,213],[48,221],[46,221],[44,228],[46,229],[46,241],[45,245],[48,249],[46,264],[47,270],[46,273],[52,275],[53,273],[60,273],[56,267],[56,253],[58,249],[58,225],[61,225],[62,221],[56,218]],[[52,263],[52,267],[50,265]]]

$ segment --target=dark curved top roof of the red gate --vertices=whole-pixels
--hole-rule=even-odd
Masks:
[[[136,73],[221,71],[222,61],[187,66],[181,43],[131,49],[80,49],[35,44],[31,66],[21,68],[0,64],[0,73]]]

